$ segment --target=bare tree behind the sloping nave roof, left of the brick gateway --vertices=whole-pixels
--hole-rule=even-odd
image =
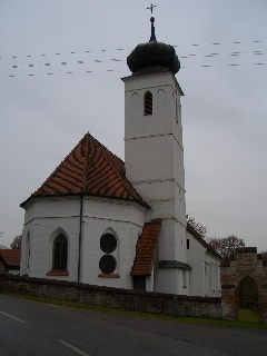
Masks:
[[[222,257],[231,258],[238,247],[244,247],[245,243],[241,238],[230,235],[228,237],[208,237],[207,243]]]

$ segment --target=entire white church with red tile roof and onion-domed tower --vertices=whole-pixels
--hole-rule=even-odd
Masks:
[[[125,162],[89,132],[26,201],[20,274],[220,296],[220,256],[187,224],[182,90],[175,48],[127,58]]]

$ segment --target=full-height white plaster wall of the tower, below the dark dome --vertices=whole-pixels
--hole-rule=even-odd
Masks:
[[[128,77],[122,80],[127,177],[151,206],[146,221],[162,219],[159,260],[187,263],[180,116],[182,92],[171,72]],[[152,115],[144,116],[144,96],[147,90],[152,93],[154,110]],[[188,294],[189,286],[184,288],[181,275],[176,268],[158,270],[158,290]]]

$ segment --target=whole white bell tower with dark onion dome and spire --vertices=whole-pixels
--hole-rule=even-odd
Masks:
[[[185,169],[180,98],[175,75],[180,62],[172,46],[158,42],[155,18],[149,42],[127,58],[125,82],[126,175],[151,206],[146,220],[161,219],[155,290],[189,294]],[[188,285],[188,284],[187,284]]]

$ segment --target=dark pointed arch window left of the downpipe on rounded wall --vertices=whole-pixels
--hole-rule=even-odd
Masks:
[[[68,240],[63,234],[59,234],[53,240],[53,266],[55,270],[67,270]]]

